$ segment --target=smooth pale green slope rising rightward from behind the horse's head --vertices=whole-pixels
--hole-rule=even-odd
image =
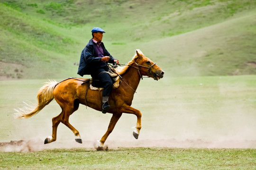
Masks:
[[[256,74],[255,13],[141,47],[172,76]],[[170,47],[165,48],[163,44]],[[152,47],[155,49],[152,50]],[[166,55],[168,54],[168,55]],[[162,64],[162,63],[161,63]]]

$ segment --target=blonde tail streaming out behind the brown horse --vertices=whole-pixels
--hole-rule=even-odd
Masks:
[[[37,106],[32,107],[24,102],[27,106],[24,108],[18,108],[18,110],[14,109],[17,111],[15,118],[30,118],[42,110],[47,104],[52,102],[54,99],[53,90],[57,84],[58,83],[55,80],[46,82],[46,84],[41,87],[37,93]]]

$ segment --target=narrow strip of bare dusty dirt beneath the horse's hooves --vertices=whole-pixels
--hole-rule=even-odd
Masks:
[[[96,147],[96,141],[82,141],[82,144],[71,141],[53,142],[44,144],[43,140],[18,140],[10,142],[0,142],[1,152],[37,152],[45,149],[55,148],[86,148],[93,149]],[[198,140],[177,141],[170,140],[141,140],[134,143],[129,141],[108,141],[105,143],[109,149],[117,149],[119,147],[170,147],[170,148],[256,148],[256,141],[211,141],[205,142]]]

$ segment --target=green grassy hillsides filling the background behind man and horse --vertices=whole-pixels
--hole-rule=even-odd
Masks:
[[[91,28],[121,63],[166,76],[256,74],[254,0],[0,0],[0,79],[78,76]]]

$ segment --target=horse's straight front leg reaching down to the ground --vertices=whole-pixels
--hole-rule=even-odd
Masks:
[[[112,118],[110,119],[110,124],[109,124],[109,127],[108,127],[108,130],[107,132],[101,137],[101,140],[100,140],[100,145],[98,147],[96,147],[97,151],[102,151],[102,150],[105,150],[104,148],[104,143],[105,141],[107,140],[108,136],[110,135],[110,133],[113,131],[114,127],[116,126],[117,124],[117,121],[119,120],[119,118],[122,116],[122,113],[113,113],[113,116]]]

